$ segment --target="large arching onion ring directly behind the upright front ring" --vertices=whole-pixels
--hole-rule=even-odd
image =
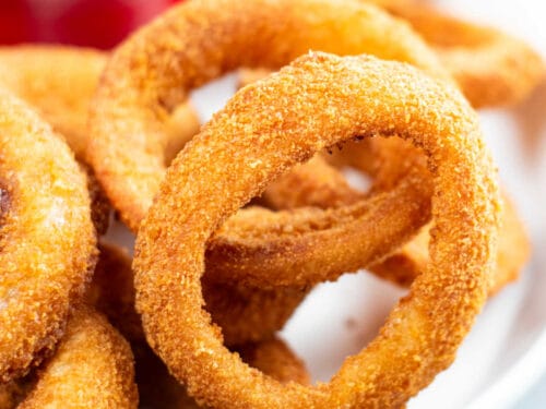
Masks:
[[[359,1],[175,7],[114,52],[92,104],[87,158],[121,220],[136,231],[146,214],[165,172],[166,121],[191,88],[238,67],[276,69],[309,49],[370,52],[450,79],[406,24]]]

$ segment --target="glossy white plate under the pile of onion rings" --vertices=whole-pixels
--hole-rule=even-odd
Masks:
[[[441,5],[518,34],[546,56],[546,4],[541,0],[452,0]],[[234,89],[228,77],[195,93],[202,117],[219,109]],[[522,278],[489,300],[453,365],[411,400],[412,409],[509,408],[546,370],[546,86],[522,107],[480,117],[503,184],[532,236],[534,253]],[[121,234],[115,240],[127,243],[128,238]],[[283,336],[306,360],[313,378],[328,381],[347,354],[377,334],[401,294],[367,273],[346,275],[319,286]]]

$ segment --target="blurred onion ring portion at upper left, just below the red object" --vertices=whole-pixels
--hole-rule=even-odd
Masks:
[[[78,158],[87,143],[87,112],[106,62],[91,48],[24,45],[0,47],[0,83],[35,107],[62,134]]]

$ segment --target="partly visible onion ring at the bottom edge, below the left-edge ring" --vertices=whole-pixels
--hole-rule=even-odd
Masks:
[[[88,306],[72,313],[55,356],[17,406],[31,408],[136,408],[129,344]]]

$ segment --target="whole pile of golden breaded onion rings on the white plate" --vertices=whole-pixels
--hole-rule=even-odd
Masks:
[[[234,70],[200,128],[190,91]],[[0,74],[0,409],[403,407],[529,256],[475,109],[543,62],[423,2],[188,0]],[[276,333],[363,268],[407,296],[311,385]]]

